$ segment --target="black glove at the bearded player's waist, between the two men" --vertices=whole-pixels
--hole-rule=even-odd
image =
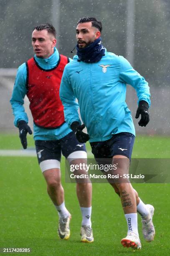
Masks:
[[[85,125],[80,125],[79,122],[75,121],[71,125],[71,130],[74,131],[76,138],[81,143],[86,143],[89,141],[89,134],[84,133],[82,130],[85,128]]]

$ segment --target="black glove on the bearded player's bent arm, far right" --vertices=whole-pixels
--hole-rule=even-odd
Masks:
[[[140,100],[139,107],[137,108],[137,112],[135,116],[135,118],[139,118],[141,114],[141,119],[138,123],[140,126],[146,126],[150,121],[148,108],[149,108],[148,103],[145,100]]]

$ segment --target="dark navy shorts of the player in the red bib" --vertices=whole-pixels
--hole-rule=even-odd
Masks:
[[[35,141],[38,163],[44,160],[56,159],[61,161],[61,152],[65,158],[75,151],[85,151],[84,143],[80,143],[71,132],[60,140],[55,141]]]

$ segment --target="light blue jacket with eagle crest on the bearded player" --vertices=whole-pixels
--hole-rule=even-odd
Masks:
[[[86,125],[90,142],[106,141],[112,134],[128,132],[135,136],[134,124],[126,99],[126,84],[137,92],[138,102],[150,105],[148,83],[123,56],[105,51],[99,62],[77,61],[66,65],[60,86],[60,98],[69,127],[79,121],[77,108]],[[78,99],[79,105],[75,102]]]

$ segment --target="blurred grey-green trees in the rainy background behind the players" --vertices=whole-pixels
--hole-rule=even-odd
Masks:
[[[107,51],[126,57],[127,0],[60,0],[59,51],[69,57],[76,45],[79,18],[93,16],[103,25]],[[152,86],[170,82],[170,1],[135,0],[134,68]],[[51,22],[53,1],[0,0],[0,67],[17,68],[31,56],[31,33],[39,23]]]

